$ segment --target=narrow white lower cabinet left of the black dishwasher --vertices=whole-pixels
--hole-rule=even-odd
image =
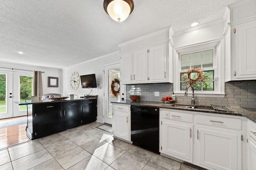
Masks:
[[[130,105],[112,104],[112,134],[130,142]]]

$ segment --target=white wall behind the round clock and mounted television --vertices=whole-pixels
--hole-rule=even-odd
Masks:
[[[102,89],[99,91],[97,88],[92,88],[92,93],[90,95],[98,95],[98,117],[97,121],[103,122],[103,102],[104,102],[104,65],[110,63],[116,63],[120,61],[119,51],[115,53],[111,53],[108,55],[104,55],[97,59],[93,59],[90,61],[86,61],[80,64],[76,64],[70,67],[66,67],[62,69],[62,95],[67,96],[68,94],[76,94],[78,97],[84,96],[90,92],[89,89],[81,87],[81,82],[77,90],[73,90],[70,87],[70,75],[72,72],[76,71],[78,74],[85,75],[85,74],[95,74],[96,75],[96,82],[102,84]]]

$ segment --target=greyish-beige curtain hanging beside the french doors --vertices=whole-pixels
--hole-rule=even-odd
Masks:
[[[43,96],[42,71],[33,71],[32,96]]]

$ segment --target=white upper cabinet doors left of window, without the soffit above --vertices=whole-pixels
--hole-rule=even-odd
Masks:
[[[166,44],[121,55],[121,83],[168,82]]]

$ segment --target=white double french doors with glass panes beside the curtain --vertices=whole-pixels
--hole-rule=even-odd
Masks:
[[[0,70],[0,119],[27,115],[24,101],[32,95],[32,72]]]

